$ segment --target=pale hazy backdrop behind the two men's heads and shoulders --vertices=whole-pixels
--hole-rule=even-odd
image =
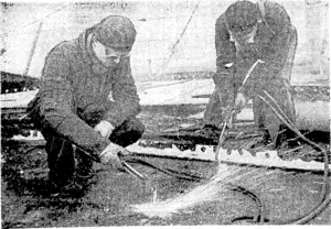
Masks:
[[[329,2],[276,1],[286,8],[298,29],[292,80],[329,83]],[[40,77],[45,55],[54,45],[77,37],[104,17],[121,14],[129,17],[138,31],[131,54],[136,80],[171,79],[173,73],[181,72],[214,72],[215,21],[232,2],[2,2],[1,70]]]

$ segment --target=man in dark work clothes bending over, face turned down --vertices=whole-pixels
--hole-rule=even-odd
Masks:
[[[260,96],[268,101],[274,99],[295,123],[290,74],[297,30],[288,13],[273,1],[236,1],[216,21],[215,46],[215,89],[204,113],[204,131],[220,129],[231,106],[241,111],[253,99],[254,119],[264,134],[263,143],[271,142],[278,149],[292,133]],[[259,63],[243,85],[256,62]]]

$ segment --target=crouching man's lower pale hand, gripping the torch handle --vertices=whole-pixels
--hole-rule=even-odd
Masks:
[[[119,156],[128,154],[129,152],[126,149],[110,142],[99,154],[99,160],[103,164],[110,164],[114,170],[125,171]]]

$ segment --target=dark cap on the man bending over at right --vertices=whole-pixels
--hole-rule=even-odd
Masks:
[[[236,1],[227,8],[225,18],[228,30],[238,32],[248,25],[255,25],[259,19],[259,12],[257,6],[250,1]]]

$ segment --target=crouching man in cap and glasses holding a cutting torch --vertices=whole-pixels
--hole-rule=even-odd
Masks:
[[[124,148],[141,138],[129,55],[135,39],[129,19],[110,15],[47,54],[28,113],[46,140],[54,190],[75,183],[72,189],[81,193],[92,178],[93,161],[122,170]]]

